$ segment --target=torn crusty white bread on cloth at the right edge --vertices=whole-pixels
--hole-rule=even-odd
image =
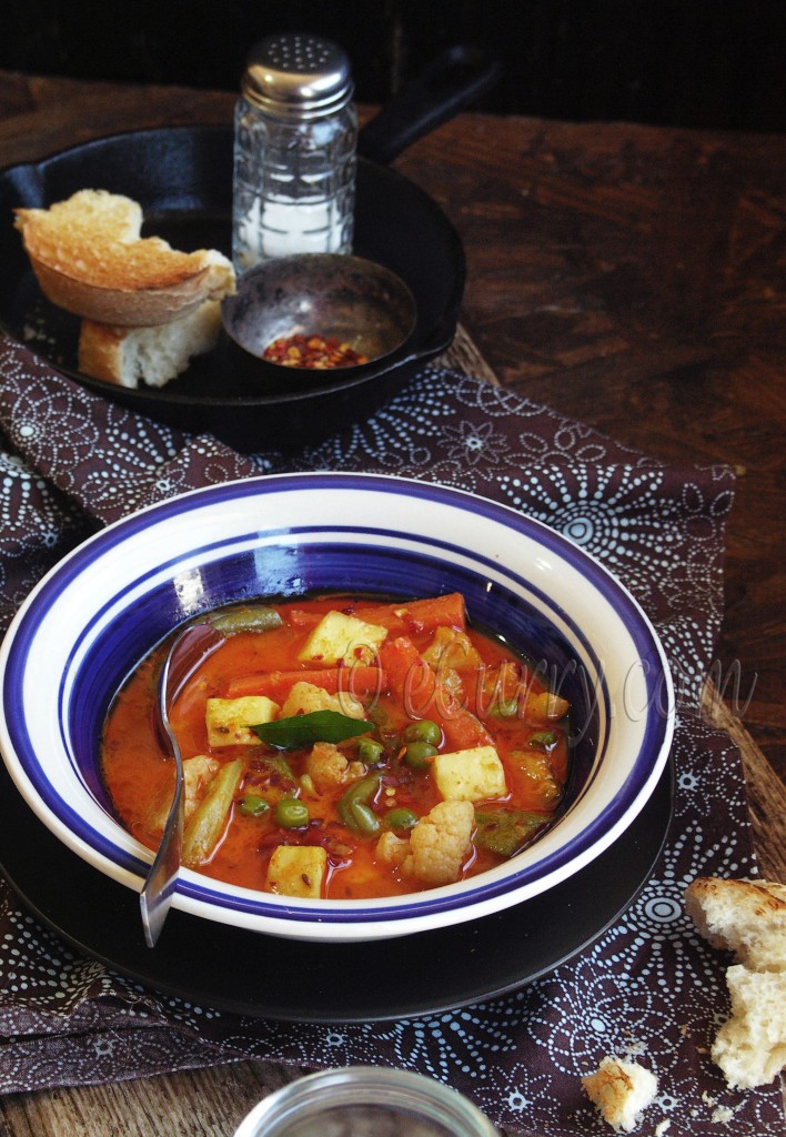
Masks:
[[[726,972],[731,1016],[712,1060],[733,1089],[767,1085],[786,1063],[786,886],[700,877],[685,902],[698,932],[738,961]]]

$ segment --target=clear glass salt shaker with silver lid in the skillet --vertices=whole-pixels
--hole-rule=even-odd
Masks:
[[[350,252],[357,115],[349,60],[286,33],[251,49],[234,114],[232,259]]]

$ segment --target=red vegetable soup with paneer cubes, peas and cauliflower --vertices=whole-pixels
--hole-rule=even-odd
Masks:
[[[553,822],[568,775],[568,704],[469,625],[460,595],[329,595],[209,619],[229,621],[226,639],[172,712],[191,770],[190,868],[287,895],[394,896],[483,872]],[[150,848],[174,779],[155,729],[166,648],[118,692],[101,747],[117,815]],[[328,722],[349,736],[321,738]],[[304,728],[305,740],[295,737]],[[283,735],[271,741],[271,729]]]

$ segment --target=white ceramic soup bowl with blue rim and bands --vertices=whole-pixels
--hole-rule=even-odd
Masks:
[[[635,822],[668,758],[668,663],[648,619],[595,559],[515,511],[364,474],[254,478],[108,526],[27,597],[0,648],[0,749],[33,812],[98,872],[140,890],[152,853],[117,822],[99,737],[113,696],[175,626],[223,604],[330,589],[463,592],[472,621],[545,661],[572,704],[560,820],[469,880],[363,901],[306,901],[182,870],[183,912],[275,936],[362,940],[474,920],[566,880]]]

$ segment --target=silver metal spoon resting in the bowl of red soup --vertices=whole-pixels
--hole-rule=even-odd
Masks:
[[[155,947],[169,911],[183,846],[183,761],[169,722],[175,699],[200,663],[224,637],[213,624],[192,624],[172,645],[158,679],[158,715],[175,760],[175,791],[162,843],[150,865],[139,903],[148,947]]]

